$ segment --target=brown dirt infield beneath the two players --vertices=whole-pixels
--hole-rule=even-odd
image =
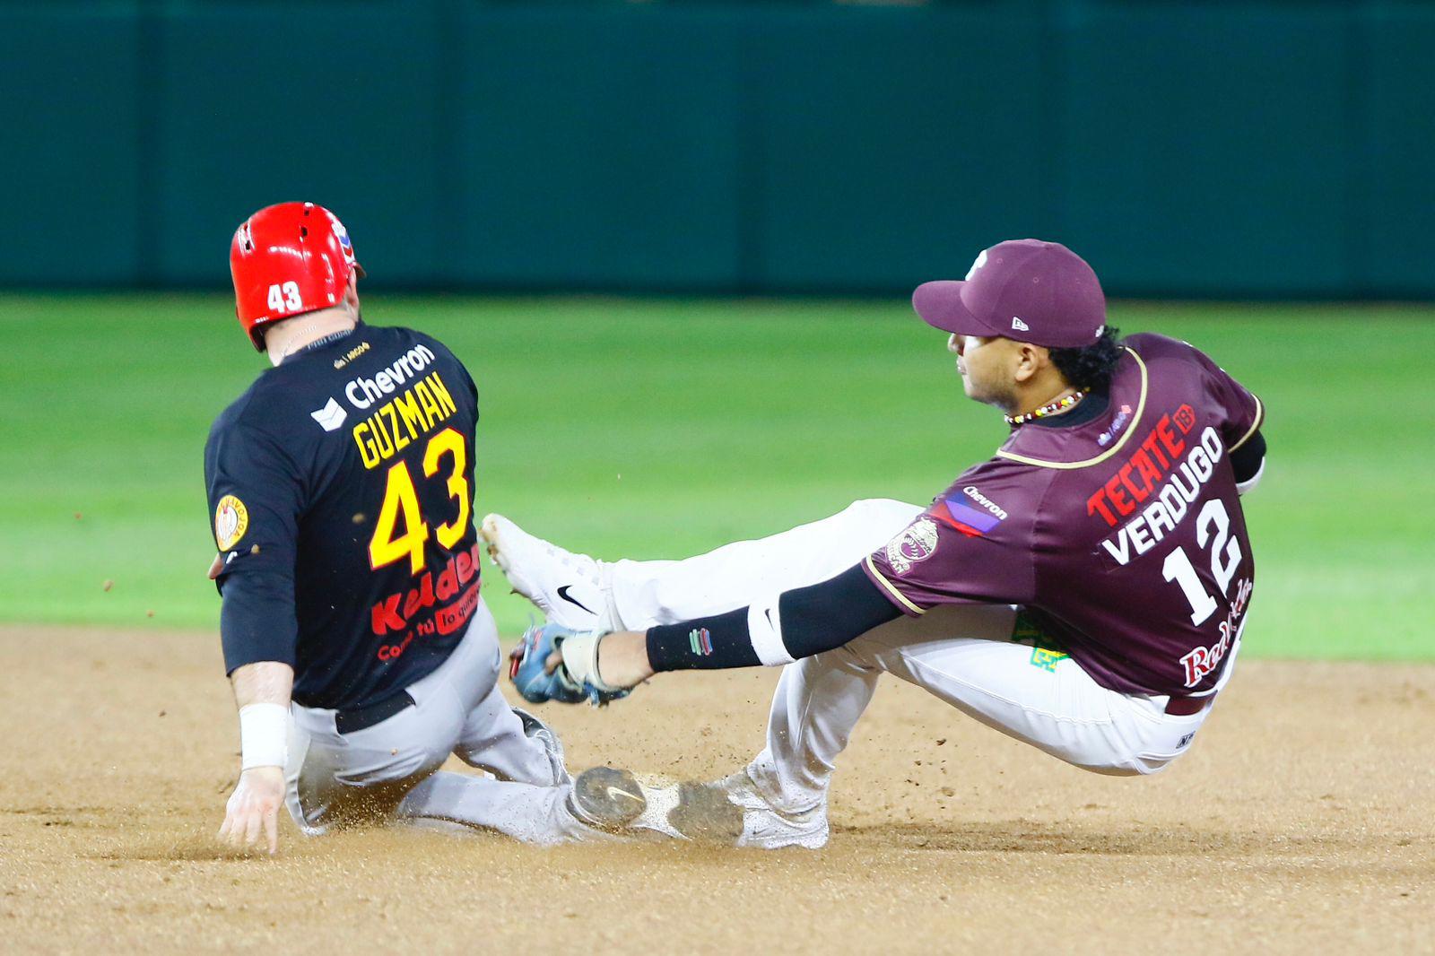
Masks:
[[[277,860],[211,834],[237,729],[201,634],[0,627],[0,949],[1435,952],[1435,667],[1241,663],[1149,779],[1068,768],[890,680],[829,847],[534,850],[375,830]],[[570,765],[695,777],[759,745],[775,672],[548,706]]]

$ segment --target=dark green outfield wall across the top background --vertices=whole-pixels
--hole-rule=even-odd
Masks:
[[[1435,4],[0,3],[0,284],[220,287],[311,198],[376,284],[1435,296]]]

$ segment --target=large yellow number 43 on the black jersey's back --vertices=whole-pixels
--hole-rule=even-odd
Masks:
[[[468,465],[468,449],[464,436],[452,428],[429,439],[423,449],[423,477],[432,478],[443,456],[452,462],[448,474],[449,498],[458,501],[458,517],[453,521],[433,528],[433,537],[445,548],[452,548],[464,538],[469,520],[469,488],[464,478],[464,468]],[[399,533],[399,524],[403,531]],[[379,507],[379,520],[375,522],[373,538],[369,541],[369,564],[375,570],[393,564],[408,557],[410,573],[423,570],[423,545],[429,541],[429,525],[423,520],[423,510],[419,507],[419,492],[413,485],[413,475],[409,474],[409,464],[396,461],[389,468],[389,484],[383,491],[383,504]]]

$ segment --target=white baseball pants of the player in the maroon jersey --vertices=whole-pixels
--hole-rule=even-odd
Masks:
[[[617,561],[608,566],[614,610],[624,629],[644,630],[772,599],[852,567],[921,511],[900,501],[858,501],[829,518],[683,561]],[[1210,706],[1174,716],[1165,713],[1165,696],[1108,690],[1071,657],[1012,643],[1016,614],[1007,604],[937,607],[788,665],[766,749],[749,774],[782,810],[825,800],[837,756],[884,672],[1098,774],[1154,774],[1187,749]]]

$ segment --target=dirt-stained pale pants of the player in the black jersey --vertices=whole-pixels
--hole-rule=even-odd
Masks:
[[[498,692],[498,632],[479,600],[453,655],[408,688],[413,706],[339,734],[291,705],[287,804],[306,835],[357,821],[478,828],[525,843],[603,840],[568,810],[571,779]],[[439,771],[449,754],[492,777]]]

